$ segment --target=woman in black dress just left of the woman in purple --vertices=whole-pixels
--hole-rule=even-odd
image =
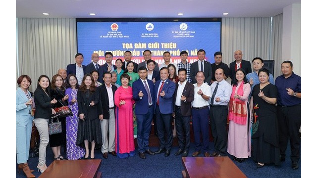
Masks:
[[[52,108],[68,105],[68,94],[65,95],[65,89],[63,86],[63,78],[58,74],[54,75],[51,84],[51,99],[56,99],[57,102]],[[66,145],[66,117],[58,117],[58,120],[61,122],[61,133],[50,135],[50,146],[53,150],[54,160],[65,160],[60,153],[60,149],[61,145]],[[66,153],[66,150],[64,150],[64,152]]]

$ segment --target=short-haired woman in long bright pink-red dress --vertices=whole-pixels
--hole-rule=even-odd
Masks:
[[[115,115],[115,152],[119,158],[133,156],[133,110],[132,88],[129,87],[130,76],[126,73],[120,76],[122,86],[114,93]]]

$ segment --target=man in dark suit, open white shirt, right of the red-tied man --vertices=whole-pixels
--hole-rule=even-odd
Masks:
[[[188,156],[190,146],[190,116],[192,115],[191,102],[194,100],[194,86],[187,82],[185,68],[178,70],[178,80],[174,93],[175,123],[178,139],[178,151],[174,154]]]

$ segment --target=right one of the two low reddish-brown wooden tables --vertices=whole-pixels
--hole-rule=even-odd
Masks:
[[[229,157],[182,157],[183,178],[247,178]]]

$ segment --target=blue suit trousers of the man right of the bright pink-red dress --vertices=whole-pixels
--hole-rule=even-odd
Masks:
[[[153,106],[149,108],[147,114],[137,114],[137,127],[138,127],[138,150],[144,153],[149,149],[149,137],[151,132],[151,124],[153,118]]]

